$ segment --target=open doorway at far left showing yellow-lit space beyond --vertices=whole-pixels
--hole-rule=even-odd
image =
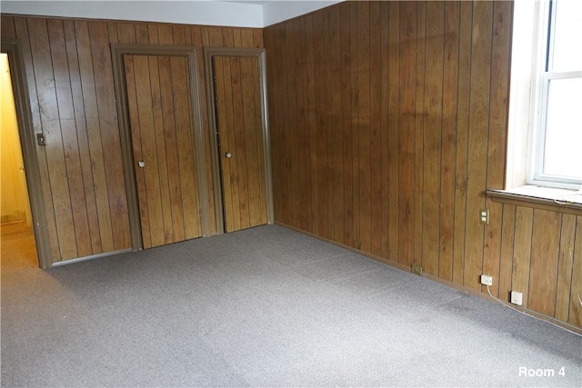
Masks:
[[[0,262],[2,266],[38,266],[25,164],[18,131],[8,55],[0,55]]]

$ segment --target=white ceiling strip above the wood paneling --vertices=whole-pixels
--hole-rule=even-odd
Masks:
[[[83,17],[187,25],[266,27],[298,15],[340,3],[323,1],[246,0],[11,0],[0,2],[0,12],[13,15]]]

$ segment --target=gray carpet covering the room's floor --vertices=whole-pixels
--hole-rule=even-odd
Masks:
[[[581,349],[276,225],[2,270],[3,386],[580,386]]]

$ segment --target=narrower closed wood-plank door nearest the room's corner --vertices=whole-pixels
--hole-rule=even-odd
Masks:
[[[260,68],[251,56],[213,56],[225,231],[267,223]]]

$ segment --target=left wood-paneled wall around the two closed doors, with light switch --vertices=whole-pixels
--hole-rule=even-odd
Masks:
[[[53,262],[131,248],[110,44],[199,47],[206,136],[202,47],[263,46],[262,30],[249,28],[9,15],[2,15],[1,28],[2,38],[22,46],[31,130],[46,134],[37,154]],[[211,188],[208,137],[206,144]]]

